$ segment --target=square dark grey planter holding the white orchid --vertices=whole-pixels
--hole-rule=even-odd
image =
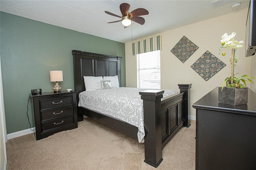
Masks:
[[[248,103],[248,87],[227,88],[219,87],[218,102],[228,105],[246,105]]]

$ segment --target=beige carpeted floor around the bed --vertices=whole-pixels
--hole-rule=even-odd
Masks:
[[[196,122],[164,146],[157,170],[194,170]],[[90,118],[78,128],[36,140],[8,140],[7,170],[156,170],[144,162],[144,144]]]

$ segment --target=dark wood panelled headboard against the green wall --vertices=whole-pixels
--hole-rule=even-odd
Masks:
[[[118,75],[121,86],[122,57],[72,50],[74,58],[75,91],[85,91],[84,76]]]

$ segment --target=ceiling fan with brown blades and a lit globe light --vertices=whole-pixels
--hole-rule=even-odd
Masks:
[[[121,20],[108,22],[108,23],[122,22],[122,24],[124,25],[124,28],[127,28],[128,26],[130,26],[132,24],[132,21],[137,22],[140,25],[143,25],[145,23],[145,19],[140,16],[148,15],[148,10],[144,8],[137,8],[132,12],[128,12],[129,8],[130,8],[130,4],[127,4],[127,3],[120,4],[120,11],[122,13],[122,16],[118,16],[111,12],[105,11],[109,15],[121,18]]]

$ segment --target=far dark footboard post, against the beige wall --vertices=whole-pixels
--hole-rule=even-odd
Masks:
[[[184,101],[184,127],[190,127],[190,89],[192,84],[178,84],[180,93],[185,92],[185,101]]]

